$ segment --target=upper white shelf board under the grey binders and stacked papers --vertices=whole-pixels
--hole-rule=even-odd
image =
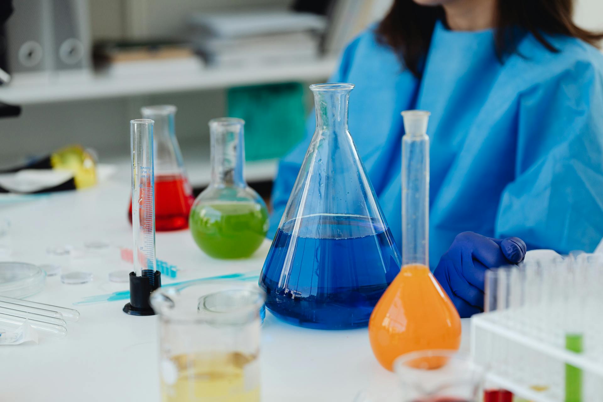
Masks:
[[[335,65],[335,58],[321,58],[296,64],[258,65],[245,69],[205,68],[161,76],[141,74],[111,77],[75,74],[42,81],[19,80],[17,77],[8,86],[0,87],[0,99],[3,102],[27,105],[285,81],[321,81],[329,77]]]

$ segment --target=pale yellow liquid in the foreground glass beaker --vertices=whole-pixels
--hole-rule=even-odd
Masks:
[[[259,402],[259,361],[241,353],[180,354],[162,364],[163,402]]]

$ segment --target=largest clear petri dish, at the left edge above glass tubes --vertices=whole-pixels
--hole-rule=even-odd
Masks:
[[[14,298],[28,297],[41,291],[46,272],[25,262],[0,262],[0,295]]]

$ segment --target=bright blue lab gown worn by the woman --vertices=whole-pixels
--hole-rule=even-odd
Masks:
[[[356,84],[349,128],[400,246],[400,111],[431,111],[430,265],[456,234],[519,236],[529,248],[592,252],[603,236],[603,55],[580,40],[531,35],[500,63],[493,31],[437,23],[423,77],[373,30],[347,46],[332,82]],[[314,133],[279,164],[273,236]]]

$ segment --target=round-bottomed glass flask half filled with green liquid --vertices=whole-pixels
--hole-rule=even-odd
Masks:
[[[189,227],[199,248],[214,258],[250,257],[268,231],[266,204],[244,179],[244,124],[235,118],[209,122],[212,181],[195,199]]]

